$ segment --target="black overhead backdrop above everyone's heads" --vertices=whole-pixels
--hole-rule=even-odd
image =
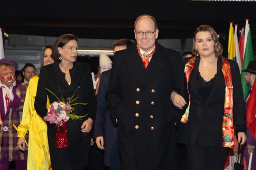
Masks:
[[[0,27],[9,34],[58,37],[73,33],[79,38],[134,39],[138,15],[153,15],[158,39],[192,38],[202,24],[211,25],[228,38],[229,22],[245,26],[249,18],[256,34],[256,2],[190,0],[1,0]]]

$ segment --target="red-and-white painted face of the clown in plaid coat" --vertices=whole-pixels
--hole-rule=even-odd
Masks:
[[[15,68],[13,66],[2,65],[0,67],[0,80],[2,84],[11,87],[15,82]]]

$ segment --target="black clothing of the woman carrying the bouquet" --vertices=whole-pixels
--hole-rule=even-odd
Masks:
[[[82,133],[81,126],[87,118],[95,117],[96,99],[94,96],[93,83],[91,78],[90,66],[87,63],[74,62],[70,71],[71,84],[65,80],[65,74],[60,71],[59,63],[55,62],[48,66],[41,67],[37,95],[34,107],[37,113],[43,118],[47,114],[46,101],[49,96],[50,103],[57,101],[56,97],[49,93],[45,88],[51,90],[61,99],[67,101],[68,97],[79,97],[75,102],[88,103],[87,105],[75,105],[76,115],[87,115],[82,120],[66,122],[68,148],[56,148],[56,124],[48,127],[48,141],[52,167],[54,170],[79,169],[87,166],[87,159],[90,147],[90,133]]]

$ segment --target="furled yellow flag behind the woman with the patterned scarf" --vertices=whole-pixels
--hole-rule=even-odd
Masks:
[[[229,33],[229,44],[228,44],[228,59],[232,59],[235,62],[237,61],[237,59],[236,59],[236,50],[235,50],[235,42],[234,42],[233,22],[230,22],[230,33]]]

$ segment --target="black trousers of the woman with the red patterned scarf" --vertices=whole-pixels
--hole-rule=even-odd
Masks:
[[[188,170],[223,170],[227,148],[186,145]]]

